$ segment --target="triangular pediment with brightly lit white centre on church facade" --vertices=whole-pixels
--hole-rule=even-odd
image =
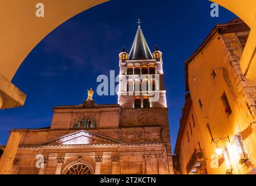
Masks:
[[[86,130],[76,131],[47,142],[47,145],[88,145],[88,144],[120,144],[121,142],[101,134]]]

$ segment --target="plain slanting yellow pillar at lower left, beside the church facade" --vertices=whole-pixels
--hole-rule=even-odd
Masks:
[[[18,131],[10,133],[9,140],[0,161],[0,174],[12,173],[12,164],[15,159],[21,138],[22,134],[20,134]]]

